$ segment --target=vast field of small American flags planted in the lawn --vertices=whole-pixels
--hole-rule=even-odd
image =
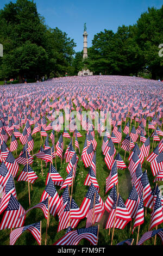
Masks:
[[[1,245],[163,244],[162,82],[60,77],[0,99]]]

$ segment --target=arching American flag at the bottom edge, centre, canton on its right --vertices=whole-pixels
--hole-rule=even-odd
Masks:
[[[78,245],[80,240],[86,239],[91,242],[92,245],[96,245],[98,241],[98,226],[89,228],[80,228],[74,231],[68,232],[61,237],[54,245]]]

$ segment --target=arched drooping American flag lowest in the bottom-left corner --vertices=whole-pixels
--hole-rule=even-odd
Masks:
[[[39,245],[41,244],[41,225],[40,222],[37,222],[27,225],[25,227],[12,230],[10,233],[10,245],[14,245],[18,237],[20,237],[20,235],[26,230],[30,231],[30,233],[35,237]]]

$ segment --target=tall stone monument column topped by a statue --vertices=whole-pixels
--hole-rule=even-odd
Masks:
[[[84,23],[84,33],[83,33],[83,60],[87,58],[87,32],[86,32],[86,23]],[[78,72],[78,76],[92,76],[93,72],[90,72],[89,69],[83,69]]]

